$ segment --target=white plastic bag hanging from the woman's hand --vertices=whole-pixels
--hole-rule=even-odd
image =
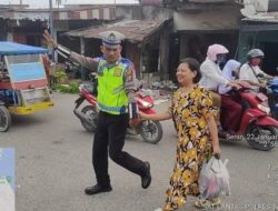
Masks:
[[[212,157],[208,163],[202,164],[199,178],[200,197],[215,199],[220,194],[230,195],[229,173],[226,168],[228,159],[224,162]]]

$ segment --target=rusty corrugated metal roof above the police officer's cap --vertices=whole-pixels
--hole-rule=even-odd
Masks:
[[[150,34],[155,33],[163,24],[163,20],[123,20],[112,24],[100,27],[90,27],[82,30],[73,30],[66,32],[66,36],[100,38],[99,33],[103,31],[119,31],[125,34],[126,40],[138,43],[143,41]]]

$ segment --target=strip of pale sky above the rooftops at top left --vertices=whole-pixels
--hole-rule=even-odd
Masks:
[[[53,7],[56,6],[57,0],[52,0]],[[61,0],[62,3],[68,3],[68,4],[81,4],[81,3],[90,3],[90,4],[105,4],[105,3],[137,3],[138,0]],[[0,0],[0,4],[13,4],[20,3],[20,0]],[[30,4],[32,8],[47,8],[49,7],[49,0],[22,0],[23,4]]]

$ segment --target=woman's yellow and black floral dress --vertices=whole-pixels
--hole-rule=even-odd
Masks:
[[[199,195],[198,179],[202,162],[211,153],[206,119],[215,115],[210,93],[196,86],[189,93],[180,88],[169,108],[178,131],[177,160],[167,190],[163,210],[177,210],[187,195]]]

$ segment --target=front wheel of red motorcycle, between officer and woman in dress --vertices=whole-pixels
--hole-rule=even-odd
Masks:
[[[146,120],[141,122],[140,134],[148,143],[158,143],[162,138],[162,125],[158,121]]]

